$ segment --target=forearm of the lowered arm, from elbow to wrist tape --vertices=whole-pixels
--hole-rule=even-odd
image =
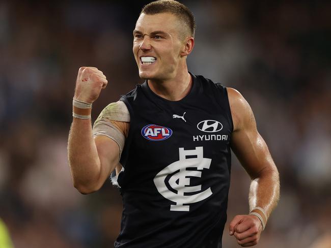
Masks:
[[[250,211],[255,207],[264,209],[268,219],[272,210],[277,206],[280,196],[280,181],[278,170],[273,167],[265,168],[259,176],[251,181],[249,204]]]

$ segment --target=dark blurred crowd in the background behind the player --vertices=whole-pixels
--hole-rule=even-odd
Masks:
[[[331,247],[331,2],[180,1],[195,14],[189,71],[250,103],[281,177],[256,247]],[[110,180],[71,182],[67,138],[78,68],[108,86],[92,120],[137,83],[132,30],[148,1],[0,1],[0,219],[16,248],[113,247],[122,200]],[[233,159],[228,219],[249,211]],[[228,235],[224,247],[238,247]]]

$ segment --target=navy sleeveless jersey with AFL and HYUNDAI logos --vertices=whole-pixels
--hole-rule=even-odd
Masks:
[[[228,94],[191,76],[180,101],[157,96],[147,81],[121,97],[130,129],[120,159],[115,247],[222,247],[233,131]]]

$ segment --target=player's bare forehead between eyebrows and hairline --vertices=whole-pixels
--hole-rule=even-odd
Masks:
[[[180,21],[171,13],[159,13],[154,15],[147,15],[142,13],[136,24],[135,29],[142,33],[152,33],[155,30],[162,30],[166,33],[178,33]]]

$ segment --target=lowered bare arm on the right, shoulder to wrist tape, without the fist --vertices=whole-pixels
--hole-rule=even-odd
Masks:
[[[262,207],[269,217],[279,199],[279,173],[269,149],[257,131],[250,105],[234,89],[228,89],[233,112],[232,149],[251,177],[250,210]],[[233,109],[233,110],[232,110]]]

